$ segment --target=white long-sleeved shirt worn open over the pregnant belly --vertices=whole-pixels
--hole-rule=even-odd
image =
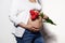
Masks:
[[[10,20],[13,26],[24,23],[25,25],[29,18],[29,11],[32,9],[41,10],[41,5],[38,3],[31,3],[29,0],[13,0],[12,8],[10,9],[11,13],[9,15]],[[14,26],[14,27],[15,27]],[[14,34],[22,38],[25,32],[25,29],[22,27],[15,27]]]

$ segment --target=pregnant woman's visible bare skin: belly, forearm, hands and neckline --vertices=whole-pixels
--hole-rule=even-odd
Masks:
[[[30,2],[36,2],[36,0],[29,0]],[[39,11],[37,11],[39,12]],[[40,28],[42,27],[42,19],[47,19],[48,16],[44,15],[44,17],[42,18],[41,16],[39,16],[39,18],[31,20],[31,18],[29,17],[27,25],[20,23],[18,26],[21,26],[22,28],[28,29],[32,32],[37,32],[40,30]]]

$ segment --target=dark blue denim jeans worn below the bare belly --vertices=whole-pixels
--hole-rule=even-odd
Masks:
[[[15,38],[17,43],[44,43],[40,32],[31,32],[29,30],[25,30],[23,38]]]

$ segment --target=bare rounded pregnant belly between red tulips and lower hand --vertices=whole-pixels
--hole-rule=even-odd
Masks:
[[[28,19],[28,24],[31,24],[34,27],[41,28],[42,26],[42,18],[39,16],[39,18],[31,20],[30,18]]]

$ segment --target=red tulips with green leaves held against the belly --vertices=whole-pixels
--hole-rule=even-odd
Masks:
[[[41,16],[42,18],[43,18],[43,16],[44,16],[43,13],[36,12],[35,10],[30,10],[29,13],[30,13],[30,16],[31,16],[30,18],[31,18],[32,20],[35,20],[35,19],[38,18],[39,16]],[[46,19],[46,23],[55,25],[55,24],[52,22],[52,19],[50,19],[49,17]]]

